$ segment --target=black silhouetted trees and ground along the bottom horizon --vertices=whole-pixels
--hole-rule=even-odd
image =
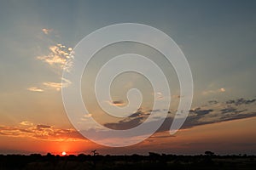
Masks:
[[[96,153],[96,150],[95,152]],[[90,170],[90,169],[255,169],[256,156],[217,156],[211,151],[198,156],[177,156],[149,152],[148,156],[54,156],[47,154],[0,155],[0,170]]]

